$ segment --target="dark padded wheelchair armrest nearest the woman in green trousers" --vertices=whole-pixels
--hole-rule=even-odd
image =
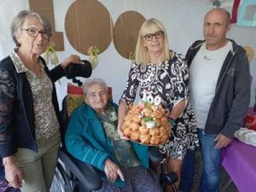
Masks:
[[[92,165],[72,157],[63,148],[60,148],[59,158],[86,189],[97,190],[102,187],[102,179]]]

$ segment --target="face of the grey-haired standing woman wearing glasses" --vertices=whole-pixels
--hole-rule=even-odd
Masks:
[[[36,28],[39,31],[44,31],[42,22],[37,17],[27,17],[22,24],[22,29]],[[28,31],[16,31],[15,36],[20,44],[19,50],[29,54],[40,55],[45,52],[49,43],[49,38],[43,38],[42,33],[33,37],[28,35]]]

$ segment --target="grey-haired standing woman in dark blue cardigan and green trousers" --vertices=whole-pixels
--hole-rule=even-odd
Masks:
[[[17,48],[0,61],[0,156],[8,185],[49,191],[60,146],[60,111],[54,82],[65,75],[72,55],[49,70],[40,55],[52,34],[38,13],[20,12],[11,32]]]

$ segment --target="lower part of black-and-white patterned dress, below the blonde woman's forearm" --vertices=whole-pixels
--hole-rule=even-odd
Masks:
[[[195,149],[199,145],[195,113],[188,103],[183,115],[175,120],[175,127],[172,127],[172,135],[166,143],[160,145],[159,151],[172,159],[184,159],[189,149]]]

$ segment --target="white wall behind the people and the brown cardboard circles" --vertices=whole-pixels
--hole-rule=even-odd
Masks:
[[[65,51],[58,52],[60,60],[69,54],[79,54],[72,48],[65,36],[65,14],[68,6],[73,2],[72,0],[54,1],[56,31],[63,31],[65,41]],[[161,20],[168,32],[170,48],[183,54],[186,53],[189,45],[195,40],[203,38],[202,24],[204,15],[212,8],[208,0],[100,0],[100,2],[108,9],[114,24],[118,16],[127,10],[140,12],[146,19],[155,17]],[[0,0],[0,4],[1,59],[10,54],[12,47],[14,47],[14,44],[10,43],[12,41],[9,32],[10,22],[20,10],[28,9],[28,0]],[[4,4],[5,6],[3,6]],[[242,33],[246,33],[246,35],[241,36]],[[241,44],[246,44],[253,40],[256,42],[255,34],[255,28],[235,27],[230,31],[230,36]],[[87,58],[85,55],[79,55],[81,58]],[[254,62],[254,64],[256,63]],[[109,86],[112,86],[113,99],[118,102],[124,90],[130,66],[131,61],[122,58],[116,51],[113,42],[111,42],[108,49],[99,55],[99,65],[93,70],[92,76],[102,77]],[[256,69],[253,69],[252,72],[256,75]],[[65,78],[61,79],[61,85],[57,83],[57,90],[61,101],[67,91],[67,80]]]

